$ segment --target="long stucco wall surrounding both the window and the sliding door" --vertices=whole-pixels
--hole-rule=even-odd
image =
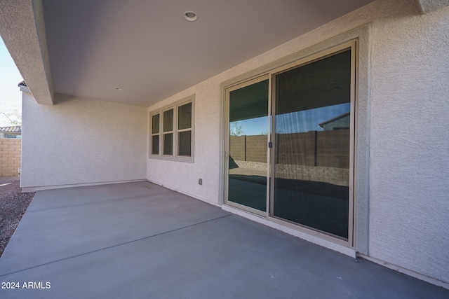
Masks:
[[[370,114],[358,115],[368,137],[357,142],[368,151],[357,159],[370,165],[356,174],[368,186],[361,191],[369,197],[363,246],[368,256],[448,282],[449,8],[420,13],[417,1],[376,1],[149,107],[196,95],[195,162],[148,159],[147,178],[220,204],[220,83],[371,22],[370,64],[359,75],[366,74],[370,95],[359,105],[371,105]]]

